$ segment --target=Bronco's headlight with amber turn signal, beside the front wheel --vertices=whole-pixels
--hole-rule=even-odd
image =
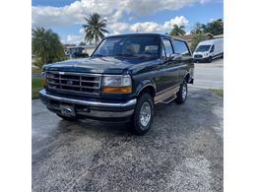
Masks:
[[[129,75],[105,75],[102,81],[102,93],[131,93],[132,80]]]

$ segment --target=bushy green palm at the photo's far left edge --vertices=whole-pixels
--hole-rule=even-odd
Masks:
[[[63,60],[64,48],[58,34],[43,28],[32,29],[32,54],[38,67]]]

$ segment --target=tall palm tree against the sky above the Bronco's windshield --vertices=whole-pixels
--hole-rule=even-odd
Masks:
[[[101,20],[101,17],[94,13],[86,18],[87,24],[83,25],[86,32],[85,40],[91,42],[95,40],[95,43],[99,38],[104,37],[104,33],[108,33],[104,28],[106,27],[106,20]]]

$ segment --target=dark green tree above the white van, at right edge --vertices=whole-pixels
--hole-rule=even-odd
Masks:
[[[204,26],[204,32],[211,32],[214,35],[224,33],[224,20],[219,19]]]

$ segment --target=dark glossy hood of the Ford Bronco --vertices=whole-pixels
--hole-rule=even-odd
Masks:
[[[89,57],[46,64],[43,70],[81,73],[122,74],[135,64],[147,62],[149,58]]]

